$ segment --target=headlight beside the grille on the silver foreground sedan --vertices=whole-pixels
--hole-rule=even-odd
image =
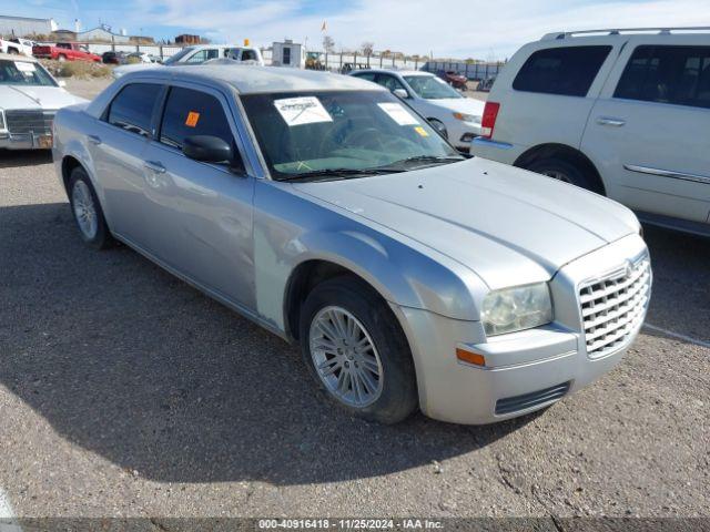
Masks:
[[[480,319],[488,336],[549,324],[552,320],[552,301],[547,283],[489,293],[484,299]]]

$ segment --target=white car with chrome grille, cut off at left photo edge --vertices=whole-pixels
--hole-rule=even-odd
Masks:
[[[54,113],[85,101],[36,59],[0,53],[0,149],[51,149]]]

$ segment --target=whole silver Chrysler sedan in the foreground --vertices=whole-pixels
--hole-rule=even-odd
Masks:
[[[126,74],[58,113],[54,163],[88,245],[121,241],[298,342],[371,420],[547,407],[621,359],[649,303],[630,211],[463,157],[352,76]]]

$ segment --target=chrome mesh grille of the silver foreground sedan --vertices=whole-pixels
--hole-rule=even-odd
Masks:
[[[643,255],[579,291],[587,354],[601,357],[621,347],[641,325],[651,296],[651,263]]]

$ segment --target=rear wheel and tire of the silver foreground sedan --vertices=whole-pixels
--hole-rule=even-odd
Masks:
[[[69,177],[69,203],[84,243],[94,249],[105,249],[114,244],[91,180],[81,166]]]

